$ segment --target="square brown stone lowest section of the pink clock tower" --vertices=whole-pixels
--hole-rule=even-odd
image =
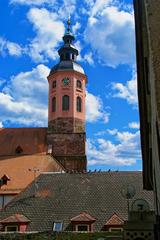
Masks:
[[[86,170],[85,133],[48,133],[47,143],[52,145],[52,156],[66,169]]]

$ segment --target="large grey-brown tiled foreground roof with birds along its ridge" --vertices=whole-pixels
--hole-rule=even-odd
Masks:
[[[60,220],[63,230],[70,231],[71,219],[86,212],[96,219],[95,231],[101,231],[114,213],[127,219],[127,201],[121,195],[126,184],[136,188],[130,204],[143,198],[153,209],[152,192],[142,189],[141,172],[45,173],[8,204],[0,218],[22,214],[31,221],[28,231],[50,231]]]

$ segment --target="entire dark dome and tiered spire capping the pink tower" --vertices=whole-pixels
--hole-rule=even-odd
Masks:
[[[53,66],[53,68],[51,69],[50,75],[55,73],[56,71],[64,71],[64,70],[65,71],[74,70],[82,74],[85,74],[83,68],[76,62],[77,56],[79,55],[79,53],[76,47],[73,45],[74,40],[75,40],[75,37],[71,33],[71,22],[70,22],[70,19],[68,19],[67,31],[63,36],[64,44],[58,50],[58,54],[60,56],[60,62],[57,65]]]

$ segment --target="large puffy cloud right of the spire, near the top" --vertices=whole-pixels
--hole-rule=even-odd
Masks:
[[[101,9],[98,15],[95,5],[91,10],[85,30],[85,41],[90,44],[94,55],[107,66],[135,63],[135,37],[133,13],[119,10],[118,6],[107,6],[97,1]]]

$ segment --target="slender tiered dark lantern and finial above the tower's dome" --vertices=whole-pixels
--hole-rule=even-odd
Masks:
[[[76,61],[78,56],[78,50],[72,44],[75,40],[74,36],[71,33],[71,21],[67,21],[67,31],[63,36],[64,45],[59,49],[58,53],[60,56],[60,61]]]

